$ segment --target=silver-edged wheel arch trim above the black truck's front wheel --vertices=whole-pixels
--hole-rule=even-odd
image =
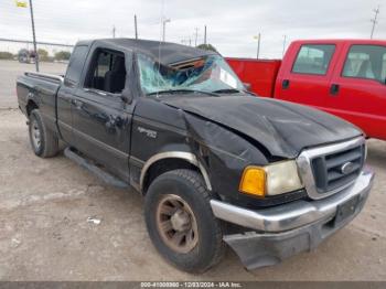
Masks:
[[[173,164],[174,161],[174,164]],[[176,163],[175,163],[176,161]],[[159,165],[164,164],[164,169],[160,172],[157,172],[156,176],[151,176],[152,169],[158,168]],[[208,173],[205,167],[200,162],[200,160],[192,152],[185,151],[167,151],[160,152],[152,156],[144,164],[140,174],[140,190],[146,194],[147,189],[149,188],[152,180],[158,175],[171,171],[174,169],[189,169],[194,168],[204,179],[205,186],[208,191],[212,191],[212,184],[208,176]]]

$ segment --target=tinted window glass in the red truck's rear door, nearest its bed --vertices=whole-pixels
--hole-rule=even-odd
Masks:
[[[307,44],[300,47],[292,73],[325,75],[335,45]]]

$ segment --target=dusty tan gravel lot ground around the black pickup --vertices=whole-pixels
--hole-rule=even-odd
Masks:
[[[141,196],[106,186],[63,154],[34,157],[14,96],[15,76],[33,68],[0,62],[0,280],[386,280],[386,142],[368,141],[377,175],[364,211],[317,250],[246,271],[228,249],[211,271],[187,275],[152,247]]]

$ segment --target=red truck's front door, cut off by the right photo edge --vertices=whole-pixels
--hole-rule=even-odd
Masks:
[[[346,43],[325,110],[386,139],[386,45]]]

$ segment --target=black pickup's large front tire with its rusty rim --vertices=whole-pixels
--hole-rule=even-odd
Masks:
[[[224,255],[222,224],[213,215],[211,199],[201,175],[185,169],[161,174],[147,192],[144,217],[150,239],[161,256],[180,270],[204,272],[216,265]],[[178,211],[171,213],[173,211],[170,207],[173,207],[175,201],[180,204],[174,205],[173,211]],[[168,214],[163,214],[167,211]],[[176,222],[181,218],[174,218],[181,215],[184,222],[189,220],[191,224],[182,222],[181,227],[181,222]],[[165,222],[168,226],[173,227],[168,233],[161,229],[164,227],[161,224],[167,224]],[[170,239],[168,242],[168,238],[172,239],[182,234],[185,234],[185,237],[181,243],[176,243],[180,245],[176,246]]]

